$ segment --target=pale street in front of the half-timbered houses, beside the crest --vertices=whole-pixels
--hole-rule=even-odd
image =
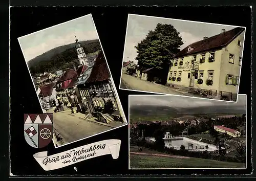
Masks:
[[[52,112],[49,110],[48,112]],[[71,143],[103,131],[113,129],[112,127],[70,116],[70,111],[56,112],[53,115],[53,127],[60,134],[63,143]]]

